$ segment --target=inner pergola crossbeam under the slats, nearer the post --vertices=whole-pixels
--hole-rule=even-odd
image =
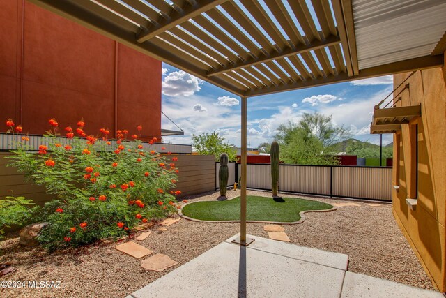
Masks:
[[[341,40],[337,36],[330,35],[328,36],[328,38],[326,38],[325,41],[313,40],[313,43],[310,43],[309,45],[300,44],[293,49],[288,48],[286,50],[283,50],[282,52],[275,52],[273,54],[262,54],[257,59],[252,58],[235,65],[230,65],[227,67],[218,68],[217,70],[212,70],[208,73],[208,76],[212,77],[213,75],[218,75],[220,73],[227,73],[231,70],[238,70],[240,68],[261,64],[263,62],[289,57],[296,54],[309,52],[311,50],[317,50],[323,47],[328,47],[330,45],[337,45],[339,43],[341,43]]]

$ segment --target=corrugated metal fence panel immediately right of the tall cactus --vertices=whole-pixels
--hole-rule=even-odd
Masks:
[[[280,165],[279,190],[330,195],[330,167]]]

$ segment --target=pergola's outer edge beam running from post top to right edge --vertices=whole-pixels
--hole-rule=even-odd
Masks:
[[[353,80],[367,79],[369,77],[380,77],[383,75],[393,75],[395,73],[406,73],[413,70],[420,70],[424,68],[441,67],[444,64],[443,55],[424,56],[381,66],[374,66],[371,68],[364,68],[360,70],[358,75],[349,76],[346,73],[339,75],[328,75],[327,77],[319,77],[315,80],[306,80],[305,82],[296,82],[289,84],[281,84],[279,86],[272,86],[263,89],[256,89],[245,92],[245,96],[260,96],[265,94],[273,94],[276,92],[290,91],[302,88],[316,87],[326,84],[349,82]]]

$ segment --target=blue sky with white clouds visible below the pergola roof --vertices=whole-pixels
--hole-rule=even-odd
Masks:
[[[185,131],[164,142],[190,144],[192,134],[217,131],[239,147],[240,98],[167,64],[162,68],[162,111]],[[297,123],[304,112],[314,111],[332,115],[335,125],[358,140],[379,144],[379,135],[369,134],[371,115],[390,91],[392,76],[385,76],[248,98],[248,144],[270,142],[280,124]],[[162,128],[175,127],[163,117]],[[383,135],[383,144],[390,142],[392,135]]]

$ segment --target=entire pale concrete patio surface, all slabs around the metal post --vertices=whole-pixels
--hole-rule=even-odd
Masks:
[[[347,271],[348,256],[238,235],[127,298],[148,297],[438,297],[439,292]]]

